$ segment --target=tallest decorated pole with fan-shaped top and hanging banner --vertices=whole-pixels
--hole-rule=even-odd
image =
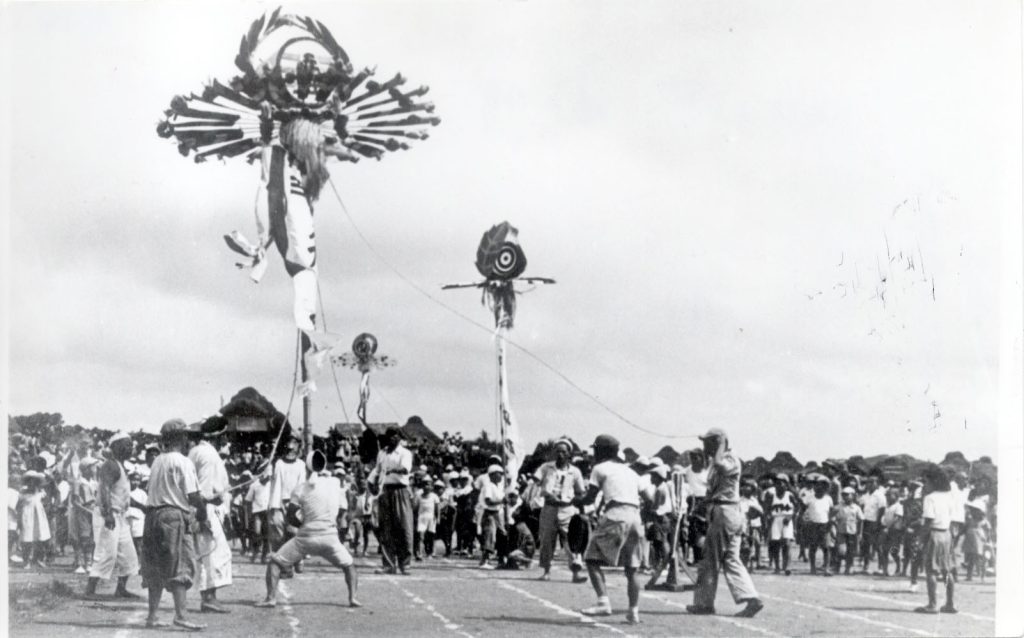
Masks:
[[[278,8],[255,20],[242,37],[226,83],[213,80],[200,94],[177,95],[157,126],[178,152],[197,163],[209,158],[244,158],[258,163],[255,242],[238,231],[224,241],[243,256],[239,267],[259,282],[273,244],[292,278],[296,327],[301,331],[303,439],[312,443],[309,393],[315,389],[310,357],[323,361],[331,346],[316,333],[316,243],[313,209],[330,180],[330,159],[380,160],[428,137],[436,126],[428,91],[409,91],[406,78],[373,79],[355,72],[348,53],[318,20],[282,14]],[[336,341],[336,340],[335,340]],[[319,345],[317,345],[319,344]]]

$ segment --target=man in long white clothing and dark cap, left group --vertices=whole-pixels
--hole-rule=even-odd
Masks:
[[[188,451],[207,512],[206,523],[196,534],[196,552],[200,556],[196,586],[203,599],[200,610],[214,613],[228,612],[217,602],[217,590],[231,584],[231,546],[224,536],[223,524],[230,508],[230,482],[224,459],[211,442],[221,431],[222,428],[202,432],[202,440]]]

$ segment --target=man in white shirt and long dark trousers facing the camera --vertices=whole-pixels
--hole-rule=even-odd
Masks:
[[[379,529],[384,573],[407,573],[413,554],[413,495],[409,475],[413,471],[413,453],[400,445],[401,430],[391,426],[384,432],[384,449],[377,453],[377,464],[368,481],[378,485]]]

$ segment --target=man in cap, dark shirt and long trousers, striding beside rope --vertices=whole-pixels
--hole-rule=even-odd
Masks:
[[[693,591],[690,613],[714,613],[718,572],[725,570],[725,582],[736,603],[746,606],[736,615],[753,618],[764,607],[754,589],[751,575],[739,560],[742,542],[743,514],[739,509],[740,462],[729,450],[725,431],[712,428],[700,437],[708,468],[708,539],[705,555],[697,568],[697,584]]]

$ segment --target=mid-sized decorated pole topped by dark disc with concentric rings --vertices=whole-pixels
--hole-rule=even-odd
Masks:
[[[476,269],[483,275],[482,282],[473,284],[450,284],[443,290],[456,288],[479,288],[482,302],[495,315],[495,351],[498,364],[498,426],[502,442],[502,462],[505,465],[506,480],[514,480],[522,464],[522,438],[519,424],[512,412],[508,384],[507,339],[515,323],[517,282],[526,284],[554,284],[555,281],[543,277],[522,277],[526,270],[526,255],[519,246],[519,231],[509,222],[492,226],[483,233],[476,250]]]

